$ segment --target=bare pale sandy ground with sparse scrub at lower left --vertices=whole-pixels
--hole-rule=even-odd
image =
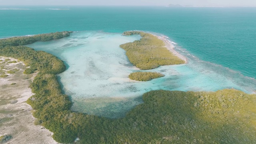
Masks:
[[[4,61],[5,59],[10,59]],[[0,56],[0,66],[4,71],[19,69],[14,74],[8,74],[6,78],[0,78],[0,136],[11,135],[7,143],[12,144],[58,144],[53,138],[53,133],[40,125],[34,125],[32,107],[26,103],[32,93],[29,85],[37,73],[23,74],[26,66],[24,62],[15,58]],[[8,63],[16,61],[16,63]]]

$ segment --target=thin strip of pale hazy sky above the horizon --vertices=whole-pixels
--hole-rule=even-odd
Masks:
[[[103,6],[256,6],[256,0],[0,0],[3,5],[103,5]]]

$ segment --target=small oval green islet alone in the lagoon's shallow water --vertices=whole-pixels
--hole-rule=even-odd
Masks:
[[[164,74],[161,74],[159,72],[133,72],[129,75],[129,78],[131,80],[137,80],[137,81],[149,81],[154,78],[160,78],[163,76]]]

